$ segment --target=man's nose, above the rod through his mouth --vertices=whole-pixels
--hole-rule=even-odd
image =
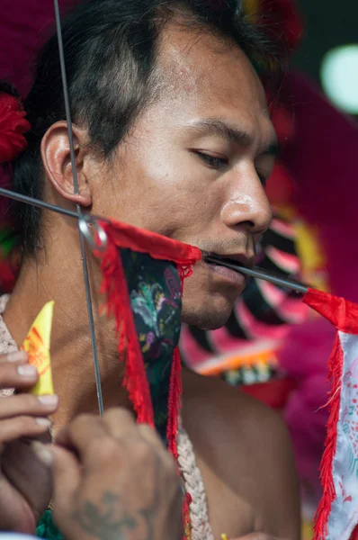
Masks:
[[[221,210],[221,220],[229,228],[244,227],[255,235],[270,226],[273,213],[264,186],[254,170],[232,179],[227,200]]]

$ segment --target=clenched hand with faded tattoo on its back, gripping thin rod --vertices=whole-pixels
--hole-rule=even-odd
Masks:
[[[81,415],[36,444],[54,481],[54,520],[67,540],[172,540],[183,536],[183,493],[157,434],[126,410]]]

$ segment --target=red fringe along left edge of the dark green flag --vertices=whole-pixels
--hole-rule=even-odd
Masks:
[[[107,315],[113,316],[116,321],[116,332],[119,334],[118,350],[121,360],[126,362],[123,385],[129,392],[138,422],[154,427],[154,412],[149,384],[134,325],[121,256],[117,247],[110,242],[104,254],[98,255],[103,257],[101,293],[105,293],[107,297],[104,307]]]

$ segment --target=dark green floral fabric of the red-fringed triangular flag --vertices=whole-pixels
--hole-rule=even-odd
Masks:
[[[166,443],[170,374],[181,328],[182,284],[174,264],[130,249],[120,251],[156,428]]]

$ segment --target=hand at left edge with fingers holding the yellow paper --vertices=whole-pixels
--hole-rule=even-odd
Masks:
[[[28,356],[0,356],[0,388],[29,390],[39,379]],[[49,437],[47,416],[58,407],[56,396],[28,393],[0,397],[0,530],[34,533],[51,496],[51,475],[27,438]]]

